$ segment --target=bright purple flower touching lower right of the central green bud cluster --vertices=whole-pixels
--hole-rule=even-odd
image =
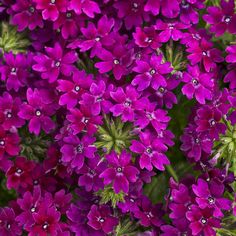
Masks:
[[[153,166],[158,170],[163,171],[164,165],[169,165],[170,162],[166,155],[163,153],[167,147],[160,139],[155,139],[150,133],[141,133],[140,141],[132,140],[130,150],[135,153],[141,154],[139,165],[151,171]]]

